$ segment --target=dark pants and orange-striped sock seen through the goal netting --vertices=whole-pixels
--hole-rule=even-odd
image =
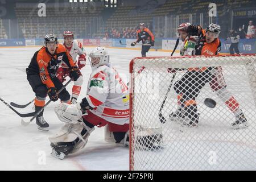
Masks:
[[[193,117],[197,113],[196,97],[208,82],[212,81],[214,75],[210,73],[212,68],[201,71],[188,71],[174,84],[174,90],[181,95],[181,107],[185,108],[186,114]]]

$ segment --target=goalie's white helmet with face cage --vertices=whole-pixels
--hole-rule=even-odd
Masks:
[[[90,65],[93,68],[97,68],[103,65],[109,64],[109,55],[105,47],[97,46],[89,54]]]

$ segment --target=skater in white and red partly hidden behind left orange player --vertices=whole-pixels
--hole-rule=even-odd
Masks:
[[[69,53],[71,54],[75,65],[79,67],[79,69],[82,69],[85,66],[86,61],[86,53],[84,48],[82,47],[82,44],[78,40],[74,40],[74,34],[72,31],[64,31],[64,46],[68,49]],[[78,61],[76,61],[76,57],[79,55]],[[64,62],[61,62],[60,68],[57,70],[57,78],[61,82],[65,81],[65,77],[69,75],[69,69],[68,65]],[[71,103],[76,103],[77,98],[79,97],[81,86],[82,86],[82,76],[79,77],[77,81],[74,82],[73,88],[72,88],[72,97],[71,97]]]

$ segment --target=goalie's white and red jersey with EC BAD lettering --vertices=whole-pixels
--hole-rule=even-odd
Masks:
[[[128,88],[112,65],[93,69],[87,88],[93,114],[117,125],[129,123]]]

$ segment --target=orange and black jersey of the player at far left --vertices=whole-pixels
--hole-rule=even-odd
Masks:
[[[58,45],[54,55],[51,55],[46,47],[42,47],[32,57],[26,69],[27,75],[40,75],[43,84],[48,88],[54,87],[51,78],[56,75],[61,61],[64,61],[69,68],[75,66],[69,51],[62,44]]]

